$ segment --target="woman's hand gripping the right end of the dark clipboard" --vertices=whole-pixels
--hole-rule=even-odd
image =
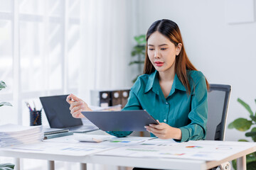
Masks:
[[[159,120],[157,120],[157,122],[159,123]],[[149,124],[149,126],[145,126],[145,128],[148,132],[153,133],[156,137],[159,137],[162,140],[181,140],[181,130],[173,128],[166,123],[159,123],[159,125]]]

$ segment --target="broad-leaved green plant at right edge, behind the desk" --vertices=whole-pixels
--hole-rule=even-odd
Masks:
[[[246,137],[252,137],[252,141],[256,142],[256,112],[253,113],[250,106],[247,103],[245,103],[245,101],[242,101],[242,99],[238,98],[238,102],[242,106],[244,106],[244,108],[248,111],[250,119],[237,118],[228,125],[228,128],[229,129],[235,128],[236,130],[245,132]],[[256,99],[255,99],[255,103],[256,103]],[[238,141],[248,142],[247,140],[242,140],[242,139]],[[233,161],[232,164],[233,164],[233,167],[236,169],[236,161]],[[246,155],[246,164],[247,164],[247,170],[256,169],[256,152]]]

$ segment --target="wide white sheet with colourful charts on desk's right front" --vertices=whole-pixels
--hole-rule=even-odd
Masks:
[[[252,146],[256,147],[256,143],[206,140],[178,143],[149,140],[137,145],[119,147],[98,154],[117,157],[159,157],[218,161]]]

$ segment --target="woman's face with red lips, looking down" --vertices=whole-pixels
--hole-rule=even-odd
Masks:
[[[181,51],[181,46],[179,43],[175,47],[166,36],[156,31],[148,39],[149,60],[158,72],[174,71],[176,55]]]

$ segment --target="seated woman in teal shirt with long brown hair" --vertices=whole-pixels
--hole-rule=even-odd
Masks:
[[[160,139],[203,140],[207,89],[208,81],[188,60],[178,25],[163,19],[155,21],[146,33],[144,74],[132,86],[123,110],[146,110],[159,125],[145,128]],[[84,118],[81,111],[92,111],[73,94],[67,101],[74,118]],[[108,133],[124,137],[132,132]]]

